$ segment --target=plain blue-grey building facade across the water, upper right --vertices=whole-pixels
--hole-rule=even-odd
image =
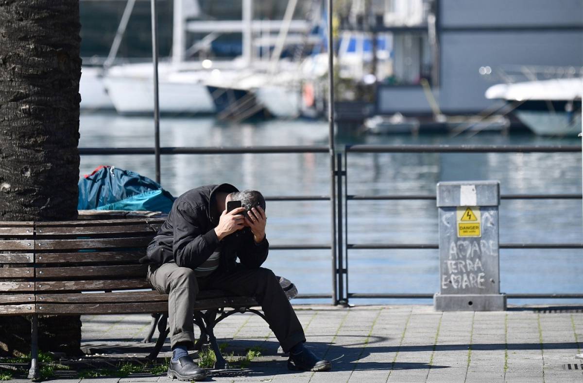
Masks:
[[[583,0],[436,0],[437,36],[431,79],[445,114],[473,114],[494,100],[505,66],[583,66]],[[395,55],[399,52],[395,51]],[[490,75],[480,75],[489,68]],[[380,114],[430,114],[420,85],[378,87]]]

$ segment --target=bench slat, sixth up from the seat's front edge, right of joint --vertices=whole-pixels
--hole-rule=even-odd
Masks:
[[[107,249],[110,247],[146,247],[152,236],[92,239],[41,239],[34,241],[37,250]],[[1,246],[1,242],[0,242]]]

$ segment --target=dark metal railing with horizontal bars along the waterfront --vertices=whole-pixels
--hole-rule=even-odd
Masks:
[[[366,293],[350,292],[349,250],[426,250],[438,249],[436,243],[348,243],[348,202],[349,201],[398,201],[436,200],[426,194],[388,194],[381,196],[347,194],[349,182],[347,161],[354,153],[580,153],[580,146],[345,146],[343,153],[331,157],[331,196],[266,196],[268,201],[332,201],[335,204],[335,224],[332,227],[333,243],[323,244],[272,244],[273,250],[331,250],[332,281],[331,294],[308,293],[298,295],[300,299],[332,299],[334,304],[347,304],[349,299],[431,299],[434,292],[427,293]],[[152,155],[154,148],[79,148],[81,155]],[[161,155],[177,154],[300,154],[330,153],[328,146],[261,146],[261,147],[161,147]],[[503,200],[581,200],[581,194],[503,194]],[[334,201],[335,200],[335,201]],[[583,243],[503,243],[500,249],[583,249]],[[583,293],[510,293],[514,299],[583,299]]]

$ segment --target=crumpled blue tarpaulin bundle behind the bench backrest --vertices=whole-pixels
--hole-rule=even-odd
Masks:
[[[174,197],[159,183],[136,172],[99,166],[79,180],[78,210],[170,212]]]

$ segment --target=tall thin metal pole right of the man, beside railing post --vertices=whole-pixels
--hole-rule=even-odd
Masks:
[[[328,146],[330,150],[330,200],[332,208],[332,304],[338,304],[336,289],[338,287],[336,270],[336,148],[334,146],[334,54],[333,54],[333,29],[332,29],[332,0],[328,0]],[[340,169],[338,169],[340,172]]]

